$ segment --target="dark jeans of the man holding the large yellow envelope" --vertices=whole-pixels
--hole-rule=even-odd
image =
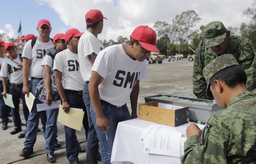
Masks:
[[[84,119],[83,126],[85,129],[85,136],[87,136],[87,131],[89,129],[88,119],[86,107],[84,105],[83,96],[82,95],[74,95],[74,94],[65,94],[67,98],[67,102],[69,103],[71,108],[80,108],[84,111]],[[66,138],[66,155],[67,159],[70,163],[78,161],[78,147],[79,143],[76,137],[76,130],[64,126],[65,128],[65,138]]]

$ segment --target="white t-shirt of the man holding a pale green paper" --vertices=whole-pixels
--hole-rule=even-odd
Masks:
[[[21,63],[20,62],[20,57],[17,55],[17,58],[13,60],[14,62]],[[8,64],[6,62],[2,63],[2,68],[0,71],[0,76],[1,77],[6,77],[9,78],[10,83],[14,84],[21,84],[23,83],[23,78],[22,78],[22,71],[20,68],[16,68],[14,66],[10,67],[10,74],[8,72]],[[9,76],[8,76],[9,75]]]

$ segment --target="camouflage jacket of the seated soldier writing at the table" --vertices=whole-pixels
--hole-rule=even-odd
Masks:
[[[216,111],[200,136],[184,145],[183,164],[226,164],[256,162],[256,96],[240,93],[228,107]]]

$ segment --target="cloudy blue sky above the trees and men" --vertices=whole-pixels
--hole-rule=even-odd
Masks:
[[[183,11],[194,10],[202,19],[195,29],[211,21],[222,21],[226,27],[248,24],[250,18],[243,11],[251,7],[253,0],[0,0],[0,33],[17,38],[20,23],[22,34],[38,35],[40,19],[52,25],[51,37],[65,33],[70,28],[85,31],[85,13],[99,9],[108,18],[104,21],[102,41],[116,40],[118,36],[129,38],[133,29],[140,25],[153,27],[156,21],[172,23]],[[186,4],[186,5],[184,5]],[[232,33],[232,32],[231,32]]]

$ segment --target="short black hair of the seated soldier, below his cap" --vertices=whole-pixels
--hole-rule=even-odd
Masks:
[[[221,80],[227,86],[234,89],[239,84],[246,86],[247,77],[244,72],[244,69],[241,66],[234,65],[234,66],[230,66],[225,69],[222,69],[221,71],[213,75],[212,78],[210,78],[210,85],[213,88],[215,87],[214,80]]]

